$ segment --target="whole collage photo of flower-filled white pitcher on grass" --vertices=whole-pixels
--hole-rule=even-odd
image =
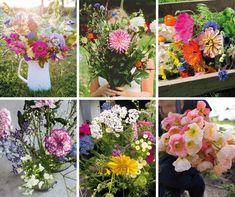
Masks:
[[[0,96],[77,96],[77,0],[0,0]]]

